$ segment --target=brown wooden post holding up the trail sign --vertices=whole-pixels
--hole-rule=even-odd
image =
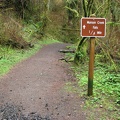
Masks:
[[[95,17],[95,15],[92,15],[91,17]],[[95,37],[91,37],[90,38],[89,73],[88,73],[88,96],[93,95],[94,57],[95,57]]]

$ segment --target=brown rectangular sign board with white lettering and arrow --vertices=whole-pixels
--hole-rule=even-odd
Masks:
[[[82,37],[105,37],[106,19],[105,18],[82,18],[81,19]]]

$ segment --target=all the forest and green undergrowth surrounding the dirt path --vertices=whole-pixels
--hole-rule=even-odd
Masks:
[[[90,38],[81,37],[80,20],[93,14],[106,19],[106,36],[95,38],[94,96],[88,97]],[[119,120],[120,0],[0,0],[0,75],[23,54],[32,54],[29,50],[56,41],[71,44],[67,49],[74,51],[64,58],[77,79],[77,87],[69,83],[70,89],[84,97],[93,112],[93,106],[105,106],[101,120]]]

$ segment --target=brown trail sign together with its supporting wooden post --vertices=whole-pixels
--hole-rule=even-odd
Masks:
[[[88,75],[88,96],[93,95],[93,74],[94,74],[94,56],[95,56],[95,37],[105,37],[106,19],[90,18],[81,19],[81,36],[90,37],[90,59]]]

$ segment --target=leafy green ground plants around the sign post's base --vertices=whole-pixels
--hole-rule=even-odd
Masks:
[[[87,63],[88,64],[88,63]],[[80,96],[86,97],[88,83],[88,65],[81,64],[80,69],[74,68],[78,85],[80,86]],[[86,97],[86,107],[100,108],[106,110],[106,116],[111,119],[119,119],[120,107],[120,73],[109,71],[108,64],[95,64],[92,97]],[[110,114],[108,114],[110,112]],[[112,115],[111,115],[112,113]]]

